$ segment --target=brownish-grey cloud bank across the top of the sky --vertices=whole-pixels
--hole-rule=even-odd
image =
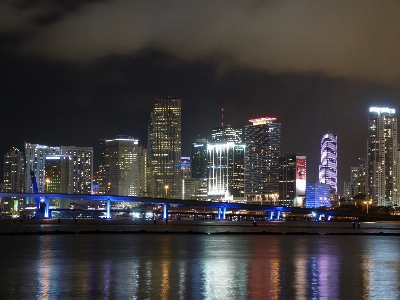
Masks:
[[[155,47],[188,61],[222,57],[222,69],[400,79],[398,1],[32,2],[17,14],[6,1],[0,31],[29,32],[21,51],[53,60],[94,63]]]

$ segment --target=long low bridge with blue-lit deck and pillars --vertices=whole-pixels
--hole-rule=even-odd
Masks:
[[[368,214],[363,212],[348,212],[335,209],[317,209],[317,208],[300,208],[285,207],[254,203],[237,203],[237,202],[219,202],[219,201],[199,201],[199,200],[181,200],[151,197],[133,197],[133,196],[112,196],[112,195],[92,195],[92,194],[53,194],[53,193],[12,193],[0,192],[2,198],[35,198],[36,209],[41,212],[44,218],[50,217],[50,199],[66,199],[72,201],[104,201],[106,203],[106,218],[111,218],[111,201],[126,203],[143,203],[149,205],[159,205],[163,207],[163,219],[168,218],[168,210],[171,206],[179,207],[202,207],[208,209],[216,209],[218,211],[218,219],[226,219],[226,210],[238,210],[247,212],[262,212],[269,216],[269,219],[279,220],[282,213],[292,213],[299,215],[315,214],[316,219],[320,219],[325,215],[329,220],[332,216],[355,217],[375,220],[391,220],[400,221],[400,216]]]

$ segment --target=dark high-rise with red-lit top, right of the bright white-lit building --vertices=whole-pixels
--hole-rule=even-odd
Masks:
[[[247,201],[275,202],[279,192],[281,124],[276,118],[250,120],[245,126],[245,195]]]

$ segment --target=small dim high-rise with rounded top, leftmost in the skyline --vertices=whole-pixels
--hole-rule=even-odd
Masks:
[[[18,148],[13,148],[4,155],[4,181],[5,192],[25,192],[25,154]]]

